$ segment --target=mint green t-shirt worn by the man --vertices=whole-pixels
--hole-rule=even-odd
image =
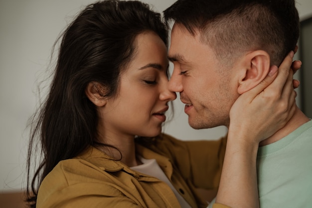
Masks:
[[[261,208],[312,208],[312,120],[259,148]]]

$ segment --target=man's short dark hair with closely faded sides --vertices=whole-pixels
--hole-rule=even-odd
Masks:
[[[200,33],[221,63],[250,50],[265,50],[280,65],[299,38],[295,0],[177,0],[164,19]]]

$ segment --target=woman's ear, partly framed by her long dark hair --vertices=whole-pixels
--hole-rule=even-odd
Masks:
[[[98,107],[102,107],[107,103],[107,99],[103,97],[105,92],[105,87],[97,82],[90,82],[85,89],[88,99]]]

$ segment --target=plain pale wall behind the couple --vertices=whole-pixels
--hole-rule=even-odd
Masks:
[[[143,0],[163,11],[175,0]],[[0,192],[25,187],[26,123],[38,103],[52,45],[72,17],[94,0],[0,0]],[[312,15],[311,0],[297,0],[301,19]],[[45,85],[47,84],[45,83]],[[194,130],[179,99],[164,131],[183,140],[217,139],[226,127]]]

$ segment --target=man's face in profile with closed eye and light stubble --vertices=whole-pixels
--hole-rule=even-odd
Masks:
[[[195,129],[229,125],[229,111],[238,98],[234,71],[222,66],[210,46],[181,24],[171,31],[169,90],[180,93],[188,123]]]

